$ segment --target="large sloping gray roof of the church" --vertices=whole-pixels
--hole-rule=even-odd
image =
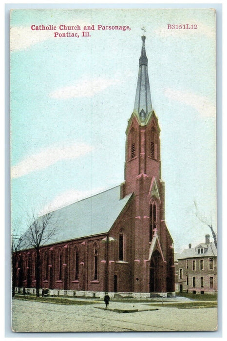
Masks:
[[[58,232],[47,244],[108,232],[132,194],[120,199],[120,186],[54,211]]]

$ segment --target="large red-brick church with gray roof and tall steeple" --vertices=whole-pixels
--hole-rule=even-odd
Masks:
[[[40,246],[39,287],[53,295],[148,298],[174,295],[173,240],[165,223],[160,128],[151,105],[145,37],[128,121],[125,181],[59,208],[51,241]],[[36,252],[21,250],[16,292],[36,288]]]

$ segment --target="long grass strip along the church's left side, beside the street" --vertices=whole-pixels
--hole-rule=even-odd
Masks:
[[[84,305],[84,304],[97,304],[99,302],[91,302],[91,301],[77,301],[77,300],[69,300],[66,298],[57,298],[57,297],[37,297],[37,296],[21,296],[15,295],[15,299],[21,301],[36,301],[43,303],[55,303],[55,304],[70,304],[70,305]]]

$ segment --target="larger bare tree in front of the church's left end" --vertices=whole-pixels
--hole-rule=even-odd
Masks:
[[[36,252],[35,278],[36,278],[36,296],[39,297],[40,286],[40,247],[47,244],[57,233],[57,220],[54,212],[37,217],[34,212],[28,217],[28,229],[23,235],[23,241],[26,248],[34,248]],[[32,222],[32,223],[31,223]]]

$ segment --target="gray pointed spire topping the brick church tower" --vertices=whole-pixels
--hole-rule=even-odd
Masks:
[[[133,113],[135,113],[141,122],[144,122],[148,114],[152,111],[151,91],[148,78],[148,58],[145,50],[145,39],[142,38],[142,50],[139,58],[139,75],[135,94],[135,104]]]

